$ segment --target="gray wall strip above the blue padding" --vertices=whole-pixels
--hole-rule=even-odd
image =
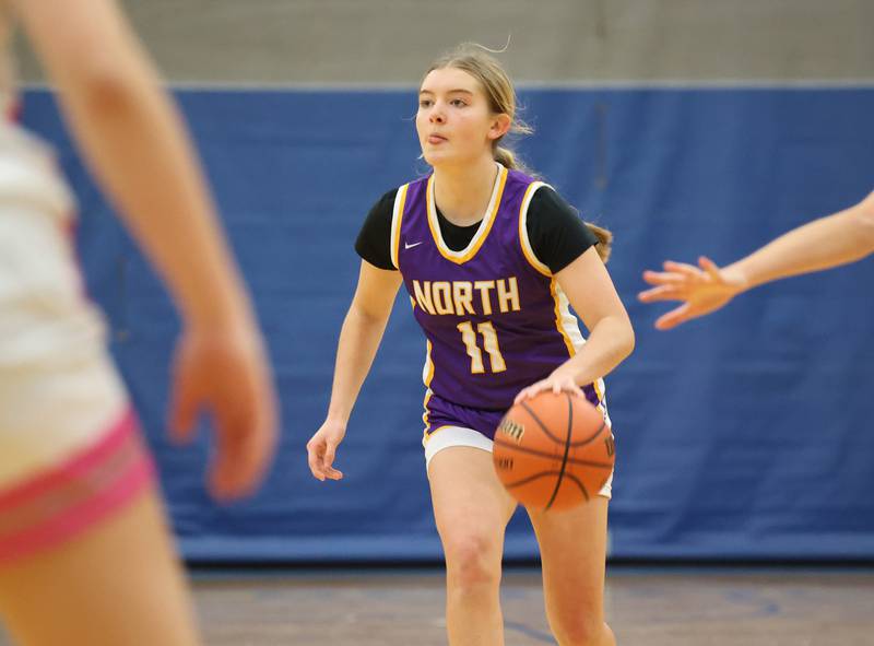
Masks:
[[[414,84],[463,40],[517,81],[871,82],[872,0],[126,0],[165,77]],[[23,49],[23,48],[22,48]],[[22,77],[38,81],[21,51]]]

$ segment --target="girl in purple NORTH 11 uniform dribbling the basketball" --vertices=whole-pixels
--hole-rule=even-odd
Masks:
[[[462,47],[432,66],[418,98],[416,129],[434,172],[383,196],[358,236],[358,286],[309,466],[319,480],[342,478],[336,446],[403,283],[426,338],[423,444],[449,643],[503,644],[500,562],[516,503],[492,466],[495,428],[515,400],[544,389],[587,397],[606,418],[601,377],[631,352],[634,332],[599,257],[609,233],[594,235],[498,146],[517,127],[498,62]],[[603,612],[609,497],[606,485],[570,512],[529,512],[546,613],[565,646],[615,643]]]

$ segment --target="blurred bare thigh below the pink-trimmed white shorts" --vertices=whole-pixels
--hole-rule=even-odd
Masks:
[[[200,644],[152,489],[63,544],[0,566],[0,613],[24,646]]]

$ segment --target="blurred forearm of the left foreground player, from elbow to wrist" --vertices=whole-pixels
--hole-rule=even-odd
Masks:
[[[239,316],[245,297],[180,119],[145,66],[68,93],[95,175],[194,326]]]

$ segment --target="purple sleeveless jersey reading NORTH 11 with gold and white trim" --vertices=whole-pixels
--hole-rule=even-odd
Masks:
[[[528,205],[541,186],[499,165],[485,216],[461,251],[440,235],[433,175],[398,190],[392,262],[427,338],[425,385],[445,400],[506,411],[522,388],[584,342],[567,298],[528,240]],[[601,402],[600,380],[584,390],[592,403]]]

